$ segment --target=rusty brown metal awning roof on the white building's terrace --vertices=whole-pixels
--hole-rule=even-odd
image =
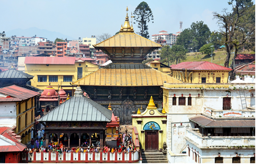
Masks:
[[[204,128],[255,127],[255,120],[213,120],[202,115],[191,117],[189,120]]]

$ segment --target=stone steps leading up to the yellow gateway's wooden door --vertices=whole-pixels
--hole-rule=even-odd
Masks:
[[[141,152],[142,163],[168,163],[167,156],[157,150]]]

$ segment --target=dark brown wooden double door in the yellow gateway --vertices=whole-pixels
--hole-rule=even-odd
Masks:
[[[158,150],[158,130],[145,131],[145,149]]]

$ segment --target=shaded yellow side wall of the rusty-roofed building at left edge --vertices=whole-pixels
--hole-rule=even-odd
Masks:
[[[26,101],[27,101],[27,108],[26,108]],[[25,101],[22,102],[17,102],[16,104],[16,129],[15,133],[22,136],[22,134],[28,132],[29,129],[31,129],[34,125],[35,121],[35,99],[34,98],[29,98]],[[19,107],[20,106],[20,107]],[[19,112],[20,108],[20,112]],[[27,119],[26,119],[26,114],[27,114]],[[20,122],[19,122],[20,118]],[[26,125],[27,122],[27,125]],[[20,126],[20,130],[19,130]],[[27,133],[25,137],[22,138],[22,143],[26,144],[27,142],[30,141],[31,138],[31,133]]]

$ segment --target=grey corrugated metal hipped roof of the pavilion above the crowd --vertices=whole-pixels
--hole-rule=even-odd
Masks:
[[[97,102],[75,95],[57,106],[38,121],[111,121],[112,112]]]

